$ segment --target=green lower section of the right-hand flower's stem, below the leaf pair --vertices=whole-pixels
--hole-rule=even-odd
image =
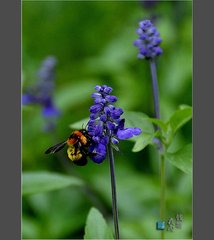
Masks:
[[[164,155],[160,154],[161,163],[160,163],[160,181],[161,181],[161,193],[160,193],[160,219],[165,221],[165,159]],[[161,239],[164,239],[164,230],[161,231]]]

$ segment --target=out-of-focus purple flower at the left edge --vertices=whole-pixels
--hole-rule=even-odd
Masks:
[[[53,102],[53,90],[55,79],[56,58],[49,56],[38,71],[38,81],[34,86],[29,87],[22,95],[22,104],[39,104],[42,106],[42,115],[45,118],[58,117],[60,115],[59,109]],[[52,129],[53,122],[48,120],[48,126],[45,129]],[[49,127],[51,125],[51,128]]]

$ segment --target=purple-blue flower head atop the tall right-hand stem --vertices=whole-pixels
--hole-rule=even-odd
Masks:
[[[138,58],[153,59],[163,53],[159,47],[162,39],[150,20],[140,21],[136,33],[139,38],[134,41],[134,46],[139,49]]]

